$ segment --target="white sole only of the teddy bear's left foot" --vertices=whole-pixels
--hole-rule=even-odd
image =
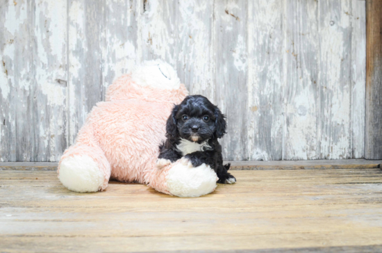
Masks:
[[[61,183],[77,193],[92,193],[101,190],[105,177],[90,156],[70,156],[61,162]]]

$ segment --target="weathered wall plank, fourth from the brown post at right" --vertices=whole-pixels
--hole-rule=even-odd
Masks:
[[[247,125],[249,160],[283,158],[283,5],[248,1]],[[245,90],[243,91],[245,92]]]

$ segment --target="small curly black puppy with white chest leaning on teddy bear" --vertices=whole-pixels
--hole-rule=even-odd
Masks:
[[[159,147],[159,168],[184,156],[194,167],[210,165],[218,183],[235,183],[235,177],[227,172],[230,164],[223,165],[222,146],[217,141],[226,133],[224,115],[206,97],[188,96],[174,106],[166,131],[167,140]]]

